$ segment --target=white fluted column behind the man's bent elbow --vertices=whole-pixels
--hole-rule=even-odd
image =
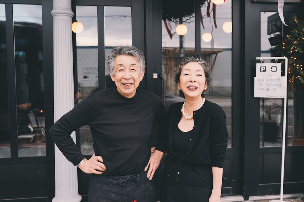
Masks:
[[[53,0],[54,19],[54,121],[74,107],[71,0]],[[71,134],[75,141],[75,132]],[[77,167],[55,146],[55,197],[53,202],[80,202]]]

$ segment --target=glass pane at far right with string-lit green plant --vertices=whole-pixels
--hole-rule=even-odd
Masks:
[[[284,49],[281,50],[289,61],[288,146],[296,146],[304,145],[304,13],[286,13],[285,16],[289,26],[284,26]]]

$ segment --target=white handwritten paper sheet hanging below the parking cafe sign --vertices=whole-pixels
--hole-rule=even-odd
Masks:
[[[254,77],[255,98],[286,98],[287,78]]]

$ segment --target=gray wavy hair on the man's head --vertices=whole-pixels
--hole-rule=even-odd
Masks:
[[[130,55],[134,56],[140,65],[140,75],[143,74],[143,70],[146,68],[145,55],[135,46],[114,46],[107,56],[108,71],[111,75],[114,75],[114,61],[118,55]]]

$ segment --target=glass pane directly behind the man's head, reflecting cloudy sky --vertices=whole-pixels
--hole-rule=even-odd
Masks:
[[[105,58],[115,45],[132,45],[131,7],[105,6]],[[105,88],[115,86],[105,63]]]

